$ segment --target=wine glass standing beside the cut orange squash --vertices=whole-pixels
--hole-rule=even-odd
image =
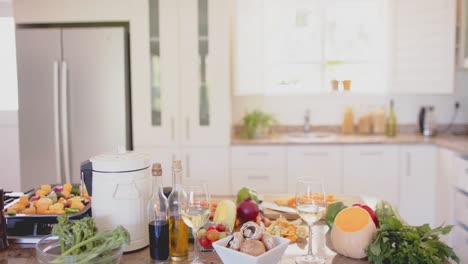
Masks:
[[[309,227],[307,255],[296,258],[296,263],[324,263],[324,258],[312,253],[312,228],[325,214],[325,192],[321,178],[299,178],[296,185],[296,209]]]

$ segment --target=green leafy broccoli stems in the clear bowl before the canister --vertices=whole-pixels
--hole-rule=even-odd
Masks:
[[[98,257],[100,260],[110,258],[113,249],[130,242],[130,234],[122,226],[110,232],[97,232],[90,217],[69,222],[66,215],[60,215],[57,220],[52,234],[60,238],[62,255],[52,263],[65,263],[68,255],[75,255],[76,263],[88,263]]]

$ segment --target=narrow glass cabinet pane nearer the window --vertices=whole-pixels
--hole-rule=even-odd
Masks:
[[[210,125],[209,83],[206,80],[208,57],[208,0],[198,0],[198,54],[200,56],[199,121]]]

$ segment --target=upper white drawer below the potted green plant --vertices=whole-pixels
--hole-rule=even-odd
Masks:
[[[231,168],[234,169],[282,169],[286,164],[284,147],[232,147]]]

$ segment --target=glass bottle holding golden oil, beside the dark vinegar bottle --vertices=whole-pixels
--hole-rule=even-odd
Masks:
[[[172,192],[169,195],[169,251],[174,261],[188,257],[189,228],[182,220],[182,164],[180,160],[172,162]]]

